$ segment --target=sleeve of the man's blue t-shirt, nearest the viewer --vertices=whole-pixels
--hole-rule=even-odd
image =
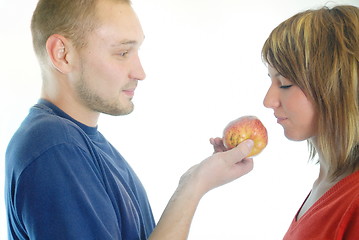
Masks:
[[[89,153],[64,143],[21,174],[14,201],[30,239],[121,239],[101,172]]]

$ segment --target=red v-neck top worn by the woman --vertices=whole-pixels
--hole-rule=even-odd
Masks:
[[[298,221],[297,215],[283,240],[359,240],[359,171],[335,184]]]

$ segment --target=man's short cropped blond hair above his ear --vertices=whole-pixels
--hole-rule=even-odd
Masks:
[[[86,45],[86,36],[99,22],[96,5],[109,0],[39,0],[32,16],[33,46],[38,57],[46,54],[46,41],[53,34],[70,39],[76,48]],[[131,4],[130,0],[112,0]]]

